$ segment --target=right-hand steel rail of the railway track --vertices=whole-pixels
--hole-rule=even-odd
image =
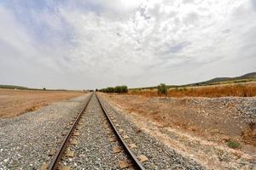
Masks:
[[[102,105],[102,101],[98,98],[97,94],[96,94],[96,99],[99,101],[99,103],[102,107],[102,111],[104,112],[105,116],[107,116],[108,122],[110,123],[110,125],[113,129],[113,133],[116,134],[116,136],[118,137],[119,142],[123,145],[123,148],[125,149],[127,155],[131,158],[131,161],[133,162],[133,166],[137,167],[137,169],[145,170],[145,167],[143,167],[143,164],[140,161],[137,160],[137,156],[135,156],[133,154],[133,152],[129,149],[129,146],[125,143],[125,140],[119,134],[117,128],[114,126],[112,120],[108,116],[108,112],[106,111],[105,107]]]

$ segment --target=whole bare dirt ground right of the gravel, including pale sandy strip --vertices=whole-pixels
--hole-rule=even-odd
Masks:
[[[256,168],[256,98],[102,95],[138,127],[209,168]],[[229,141],[240,145],[232,149]]]

